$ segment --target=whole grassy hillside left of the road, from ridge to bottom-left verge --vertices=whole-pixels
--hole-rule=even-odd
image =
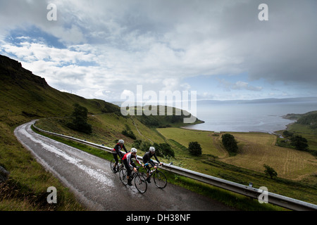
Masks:
[[[85,210],[68,188],[37,163],[13,134],[19,124],[41,117],[71,115],[73,104],[89,113],[119,112],[105,101],[63,93],[15,60],[0,56],[0,166],[10,172],[0,184],[0,210]],[[46,202],[49,186],[58,189],[58,204]]]

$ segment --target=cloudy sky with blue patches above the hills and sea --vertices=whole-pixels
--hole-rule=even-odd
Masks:
[[[316,0],[0,0],[0,54],[55,89],[105,101],[138,84],[199,99],[317,96],[316,9]]]

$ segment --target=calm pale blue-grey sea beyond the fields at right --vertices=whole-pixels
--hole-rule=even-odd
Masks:
[[[283,118],[290,113],[317,110],[317,101],[271,99],[266,101],[197,101],[197,118],[202,124],[186,126],[204,131],[265,132],[286,129],[294,120]]]

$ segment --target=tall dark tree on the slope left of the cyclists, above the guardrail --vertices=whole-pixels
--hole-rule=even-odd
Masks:
[[[87,114],[87,108],[75,103],[72,114],[73,122],[68,122],[68,124],[66,124],[67,127],[85,134],[92,134],[92,125],[87,123]]]

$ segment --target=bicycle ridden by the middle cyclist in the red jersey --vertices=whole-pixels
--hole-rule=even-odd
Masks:
[[[131,182],[133,179],[135,180],[135,188],[137,188],[137,191],[139,191],[139,193],[145,193],[147,191],[147,181],[144,175],[139,173],[140,167],[142,166],[136,167],[137,172],[132,172],[130,179],[131,179]],[[127,174],[128,174],[127,169],[125,169],[125,167],[122,167],[119,171],[119,177],[120,177],[120,181],[125,186],[128,184]]]

